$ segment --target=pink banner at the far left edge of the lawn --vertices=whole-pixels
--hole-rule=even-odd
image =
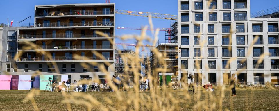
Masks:
[[[10,90],[12,75],[0,75],[0,90]]]

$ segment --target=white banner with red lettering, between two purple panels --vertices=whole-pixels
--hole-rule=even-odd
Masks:
[[[29,90],[30,86],[31,86],[30,78],[31,78],[31,75],[19,75],[18,76],[18,90]]]

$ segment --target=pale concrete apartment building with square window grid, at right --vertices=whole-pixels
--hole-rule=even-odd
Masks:
[[[278,84],[278,22],[251,18],[250,0],[178,0],[179,80],[228,84],[236,74],[238,84]]]

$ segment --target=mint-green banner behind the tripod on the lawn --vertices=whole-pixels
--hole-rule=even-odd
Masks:
[[[49,82],[49,77],[51,77],[51,83],[49,83],[49,85],[47,86],[48,82]],[[51,88],[51,84],[52,84],[52,78],[53,75],[40,75],[40,90],[45,90],[47,87],[47,90],[49,90],[49,88]]]

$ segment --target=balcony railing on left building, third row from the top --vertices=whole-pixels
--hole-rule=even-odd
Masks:
[[[105,33],[109,37],[113,37],[113,33]],[[104,37],[94,33],[71,33],[71,34],[20,34],[19,39],[35,39],[35,38],[100,38]]]

